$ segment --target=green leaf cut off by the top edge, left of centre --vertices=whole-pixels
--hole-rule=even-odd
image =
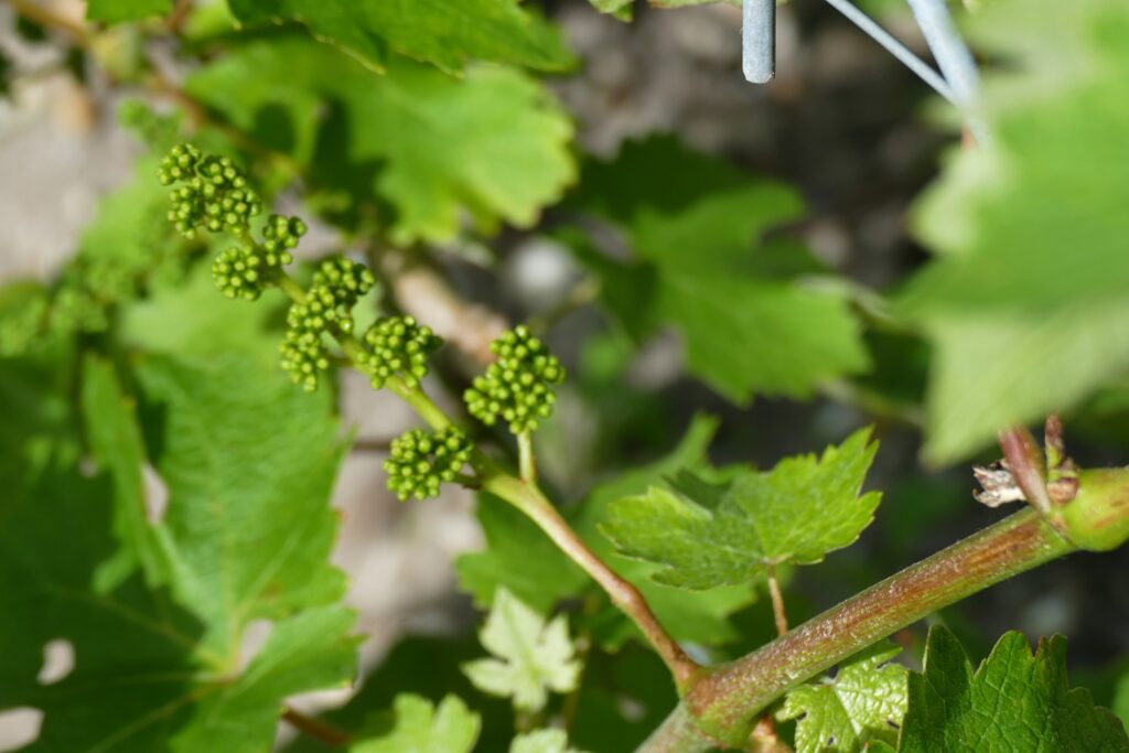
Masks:
[[[472,59],[559,71],[574,64],[551,24],[517,0],[230,0],[244,23],[297,20],[378,71],[397,52],[458,72]]]

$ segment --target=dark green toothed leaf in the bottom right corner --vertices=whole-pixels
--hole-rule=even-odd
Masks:
[[[1009,632],[973,673],[956,638],[935,627],[924,673],[909,677],[898,750],[1115,753],[1129,751],[1129,737],[1089,691],[1070,690],[1061,636],[1041,640],[1032,656],[1027,639]]]

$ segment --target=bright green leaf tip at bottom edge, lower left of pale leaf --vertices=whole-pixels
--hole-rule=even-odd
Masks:
[[[470,753],[479,738],[482,719],[457,695],[447,695],[436,708],[412,693],[396,695],[390,711],[380,711],[365,725],[360,742],[350,753]]]

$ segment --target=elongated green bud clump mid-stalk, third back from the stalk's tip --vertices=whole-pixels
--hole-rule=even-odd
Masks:
[[[343,256],[322,262],[305,299],[295,301],[287,313],[281,362],[296,384],[307,391],[317,388],[321,373],[330,368],[324,335],[352,332],[352,307],[375,284],[368,269]]]

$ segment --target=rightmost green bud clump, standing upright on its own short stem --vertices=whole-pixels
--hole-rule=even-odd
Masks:
[[[564,367],[524,325],[501,333],[490,350],[498,360],[463,394],[467,410],[487,426],[501,419],[515,435],[535,430],[553,412]]]

